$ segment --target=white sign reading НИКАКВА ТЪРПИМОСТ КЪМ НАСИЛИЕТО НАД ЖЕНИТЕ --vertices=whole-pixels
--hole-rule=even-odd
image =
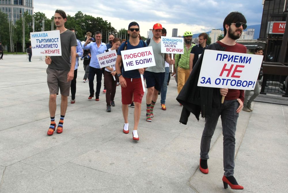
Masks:
[[[30,37],[34,56],[62,56],[59,30],[31,32]]]

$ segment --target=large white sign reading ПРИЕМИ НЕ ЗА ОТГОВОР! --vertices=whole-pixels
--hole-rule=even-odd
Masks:
[[[263,56],[205,50],[198,86],[254,90]]]

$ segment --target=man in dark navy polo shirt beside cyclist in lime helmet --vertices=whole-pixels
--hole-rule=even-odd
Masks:
[[[192,47],[189,60],[190,73],[192,72],[192,69],[199,58],[199,54],[201,54],[204,48],[207,47],[206,45],[207,39],[208,35],[206,33],[200,33],[198,36],[198,44]]]

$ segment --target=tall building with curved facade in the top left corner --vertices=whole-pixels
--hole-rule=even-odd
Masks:
[[[33,0],[0,0],[0,11],[8,14],[12,23],[15,23],[25,12],[34,14]]]

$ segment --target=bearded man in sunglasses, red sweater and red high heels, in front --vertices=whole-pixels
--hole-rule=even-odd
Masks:
[[[236,39],[240,38],[242,31],[247,27],[245,17],[239,12],[231,12],[226,16],[223,27],[224,38],[207,46],[206,49],[247,53],[244,45],[236,43]],[[201,110],[202,117],[205,117],[206,123],[200,144],[200,171],[207,174],[207,159],[209,159],[208,153],[211,138],[221,115],[223,127],[223,166],[225,171],[222,181],[224,188],[227,188],[229,184],[232,189],[243,189],[243,186],[238,185],[234,178],[234,155],[236,124],[239,112],[243,108],[244,90],[198,87],[198,77],[203,60],[202,55],[194,66],[194,70],[187,81],[188,84],[184,85],[177,97],[178,102],[183,104],[180,122],[187,124],[190,112],[199,120]],[[223,104],[221,104],[222,96],[225,96]]]

